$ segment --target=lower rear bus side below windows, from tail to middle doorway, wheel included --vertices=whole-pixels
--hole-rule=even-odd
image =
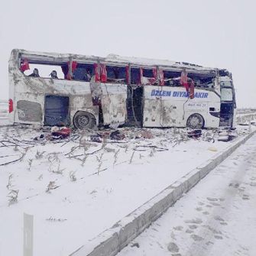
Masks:
[[[79,129],[95,128],[99,122],[101,125],[125,123],[127,90],[124,85],[99,83],[100,100],[95,101],[90,83],[34,77],[24,79],[25,83],[18,83],[15,87],[15,123],[74,125]],[[100,110],[102,115],[99,115]]]

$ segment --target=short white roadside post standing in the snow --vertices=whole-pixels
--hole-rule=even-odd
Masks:
[[[33,220],[33,215],[24,213],[23,256],[33,256]]]

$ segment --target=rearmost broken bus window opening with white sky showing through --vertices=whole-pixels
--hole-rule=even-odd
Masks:
[[[37,69],[39,77],[50,78],[50,73],[52,73],[53,70],[56,70],[58,78],[64,79],[61,66],[29,63],[29,67],[29,70],[24,71],[25,76],[30,76],[33,73],[33,70]]]

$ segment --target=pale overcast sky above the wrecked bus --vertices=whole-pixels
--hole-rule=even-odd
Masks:
[[[8,0],[0,3],[0,99],[13,48],[109,53],[226,68],[238,107],[256,107],[254,0]]]

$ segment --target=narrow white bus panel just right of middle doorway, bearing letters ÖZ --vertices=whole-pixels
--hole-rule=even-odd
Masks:
[[[143,126],[162,127],[160,123],[161,99],[158,86],[144,86]]]

